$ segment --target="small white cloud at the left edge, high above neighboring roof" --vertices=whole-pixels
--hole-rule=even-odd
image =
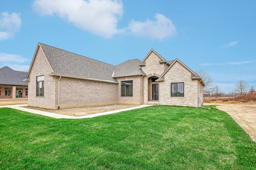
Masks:
[[[0,41],[13,38],[20,30],[21,22],[20,13],[2,12],[0,16]]]

